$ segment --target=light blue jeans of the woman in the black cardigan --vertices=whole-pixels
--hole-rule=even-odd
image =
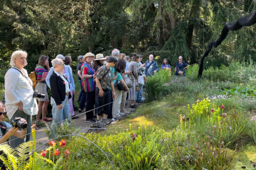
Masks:
[[[55,102],[55,101],[54,101]],[[65,100],[62,101],[62,108],[59,109],[56,104],[52,105],[52,132],[54,137],[57,137],[56,135],[56,129],[59,128],[62,118],[63,121],[67,120],[70,124],[70,113],[69,113],[69,105],[68,105],[68,96],[65,96]]]

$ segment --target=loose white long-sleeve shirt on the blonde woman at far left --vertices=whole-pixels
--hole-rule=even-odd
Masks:
[[[23,104],[23,112],[26,114],[36,115],[38,112],[36,99],[33,98],[34,90],[31,86],[33,82],[29,79],[27,70],[22,69],[20,71],[26,75],[28,79],[23,77],[18,70],[11,68],[4,76],[5,107],[7,116],[10,119],[17,111],[18,106],[16,104],[20,101]]]

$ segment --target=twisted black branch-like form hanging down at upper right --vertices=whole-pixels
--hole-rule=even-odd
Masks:
[[[214,46],[215,48],[218,47],[222,43],[222,41],[225,40],[225,38],[227,37],[229,30],[236,31],[236,30],[241,29],[242,27],[251,26],[254,23],[256,23],[256,11],[253,11],[250,14],[248,14],[248,15],[244,16],[243,18],[240,18],[232,23],[227,22],[221,31],[220,37],[216,41],[212,41],[208,45],[206,52],[204,53],[203,57],[201,58],[201,63],[200,63],[199,71],[198,71],[198,79],[200,79],[202,77],[204,58],[209,55],[209,53],[212,50],[212,46]]]

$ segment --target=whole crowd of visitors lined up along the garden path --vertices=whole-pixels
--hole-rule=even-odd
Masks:
[[[105,57],[103,54],[95,56],[92,53],[78,56],[76,73],[81,85],[78,112],[83,112],[85,106],[85,122],[115,121],[119,116],[127,114],[125,110],[127,101],[130,101],[129,107],[136,108],[135,103],[145,100],[142,97],[145,77],[155,74],[159,68],[152,54],[149,55],[146,63],[142,62],[142,58],[142,55],[134,53],[130,62],[130,56],[120,53],[118,49],[113,49],[111,55]],[[5,74],[5,105],[0,103],[0,122],[3,115],[7,114],[10,121],[21,117],[20,121],[26,122],[28,127],[21,131],[12,128],[6,133],[8,138],[12,134],[10,138],[12,147],[17,147],[24,142],[24,139],[20,139],[21,134],[27,134],[26,141],[29,141],[32,115],[36,115],[37,121],[52,121],[51,128],[55,136],[56,128],[63,121],[63,123],[70,123],[70,118],[78,118],[75,116],[73,106],[75,83],[73,71],[69,66],[71,62],[71,56],[59,54],[51,61],[50,68],[49,57],[44,55],[39,57],[35,67],[37,84],[34,91],[33,82],[23,68],[27,65],[27,53],[22,50],[12,53],[11,69]],[[185,75],[187,66],[180,56],[175,66],[175,75]],[[167,58],[164,58],[161,69],[171,70],[170,65],[167,64]],[[52,118],[46,117],[49,104],[47,86],[51,90]],[[38,97],[38,104],[36,97]],[[5,122],[4,126],[8,128],[10,124]],[[0,127],[2,130],[1,124]],[[3,136],[1,131],[1,137]],[[0,141],[3,142],[2,140]]]

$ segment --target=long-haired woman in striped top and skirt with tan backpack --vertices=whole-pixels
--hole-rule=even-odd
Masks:
[[[45,69],[47,68],[47,70]],[[38,113],[36,115],[36,121],[40,121],[41,118],[41,113],[42,113],[42,122],[51,122],[51,118],[46,117],[47,113],[47,106],[49,103],[49,97],[47,94],[47,84],[46,84],[46,76],[48,72],[50,71],[50,66],[49,66],[49,57],[42,55],[40,56],[38,60],[38,64],[35,68],[35,73],[36,73],[36,90],[40,92],[41,94],[45,94],[44,98],[38,98]]]

